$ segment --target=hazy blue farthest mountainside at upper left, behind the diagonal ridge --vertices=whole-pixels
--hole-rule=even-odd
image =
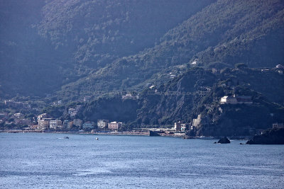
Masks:
[[[45,96],[135,55],[214,1],[1,0],[2,96]]]

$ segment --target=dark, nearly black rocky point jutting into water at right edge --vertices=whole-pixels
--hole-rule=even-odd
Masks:
[[[284,144],[284,128],[269,129],[261,135],[256,135],[246,144]]]

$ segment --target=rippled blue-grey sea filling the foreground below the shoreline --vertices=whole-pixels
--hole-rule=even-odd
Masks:
[[[0,188],[284,188],[284,145],[214,142],[0,133]]]

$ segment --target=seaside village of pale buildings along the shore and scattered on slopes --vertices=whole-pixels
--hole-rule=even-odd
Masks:
[[[279,74],[283,74],[284,67],[282,65],[276,66]],[[261,69],[261,71],[269,71]],[[153,86],[151,86],[153,87]],[[150,87],[150,88],[151,88]],[[234,88],[233,88],[234,89]],[[130,93],[121,96],[123,100],[136,99],[137,96],[133,96]],[[84,97],[84,102],[87,102],[89,97]],[[61,101],[58,101],[56,105],[59,105]],[[223,96],[219,100],[219,104],[252,104],[251,96]],[[32,108],[29,103],[26,102],[16,102],[13,100],[4,101],[4,105],[11,109],[21,108],[27,111],[39,112],[38,108]],[[54,104],[53,104],[54,105]],[[23,113],[11,113],[0,112],[0,125],[23,125],[21,131],[25,132],[91,132],[91,133],[126,133],[126,134],[151,134],[151,131],[158,132],[160,135],[176,136],[182,137],[185,132],[193,131],[196,132],[200,124],[202,124],[202,115],[198,115],[197,118],[193,119],[190,123],[185,123],[182,121],[175,122],[172,127],[167,128],[137,128],[133,129],[131,132],[121,132],[121,128],[124,126],[124,122],[119,122],[118,120],[97,120],[97,122],[83,121],[77,119],[77,113],[82,108],[82,105],[76,105],[74,108],[68,109],[68,114],[70,115],[70,120],[59,120],[57,118],[51,118],[47,113],[37,115],[33,119],[25,118]],[[219,112],[222,113],[222,108],[219,107]],[[283,128],[283,123],[273,123],[271,125],[273,128]],[[8,126],[9,127],[9,126]],[[2,130],[0,128],[0,130]],[[7,130],[7,129],[6,129]]]

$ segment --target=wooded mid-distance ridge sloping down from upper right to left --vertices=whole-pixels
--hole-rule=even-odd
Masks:
[[[165,33],[155,47],[116,59],[63,86],[58,96],[72,93],[76,99],[82,96],[80,91],[90,96],[102,91],[139,91],[147,83],[169,81],[170,72],[177,67],[186,71],[217,63],[234,67],[239,62],[249,67],[275,67],[284,59],[283,8],[283,2],[277,0],[214,2]]]

